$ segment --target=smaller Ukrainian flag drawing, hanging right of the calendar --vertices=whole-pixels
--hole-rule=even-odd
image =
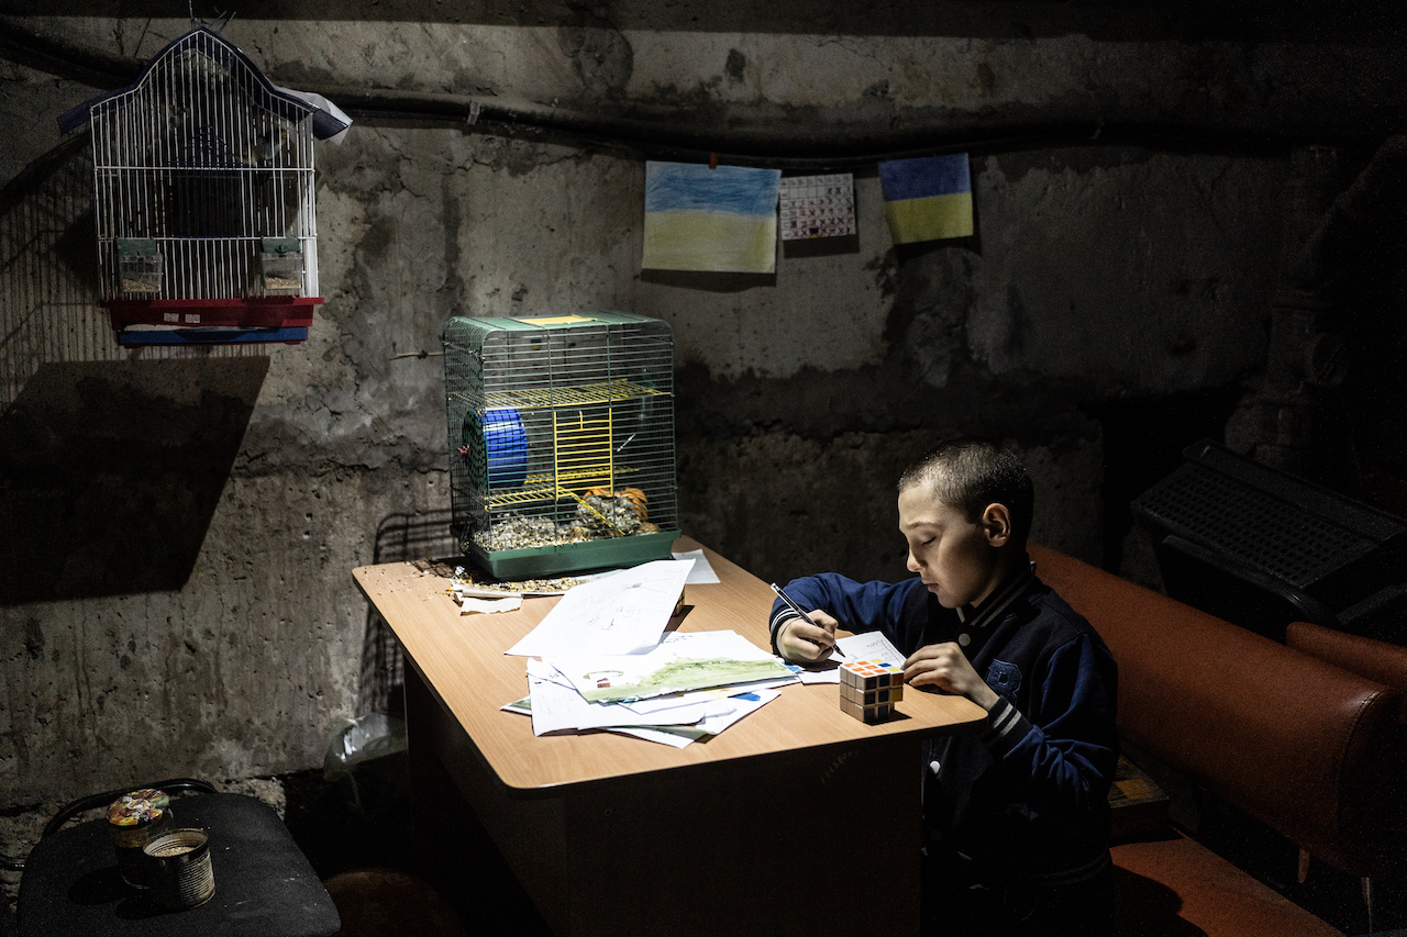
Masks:
[[[967,153],[879,163],[879,191],[895,243],[972,235]]]

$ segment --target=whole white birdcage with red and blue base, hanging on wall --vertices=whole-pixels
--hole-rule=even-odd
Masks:
[[[342,111],[201,27],[59,118],[83,122],[101,305],[124,345],[307,338],[322,302],[312,141],[346,131]]]

